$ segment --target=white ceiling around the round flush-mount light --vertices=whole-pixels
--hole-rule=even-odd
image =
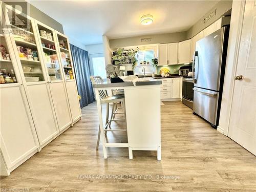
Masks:
[[[188,30],[218,1],[29,1],[84,45],[110,39]],[[140,24],[152,14],[152,25]]]

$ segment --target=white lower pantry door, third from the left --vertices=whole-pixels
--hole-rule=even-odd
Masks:
[[[62,131],[72,124],[65,83],[63,81],[50,82],[49,86],[59,131]]]

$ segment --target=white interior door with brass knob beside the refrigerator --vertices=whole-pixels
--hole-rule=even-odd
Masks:
[[[246,1],[228,137],[256,155],[256,1]]]

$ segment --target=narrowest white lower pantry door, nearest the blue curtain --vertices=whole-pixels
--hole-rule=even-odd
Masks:
[[[77,121],[81,117],[79,99],[77,95],[76,82],[74,80],[66,80],[66,88],[69,98],[69,106],[71,111],[72,122]]]

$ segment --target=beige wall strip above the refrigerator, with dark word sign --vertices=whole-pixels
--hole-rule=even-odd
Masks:
[[[196,34],[198,34],[200,31],[204,30],[206,27],[211,25],[212,23],[216,22],[220,17],[230,15],[232,8],[232,1],[220,1],[218,4],[216,4],[214,7],[212,7],[203,17],[201,17],[198,22],[193,25],[188,31],[186,32],[186,38],[190,39],[194,37]],[[204,24],[203,19],[209,15],[212,11],[216,9],[216,15],[212,17],[208,22]]]

